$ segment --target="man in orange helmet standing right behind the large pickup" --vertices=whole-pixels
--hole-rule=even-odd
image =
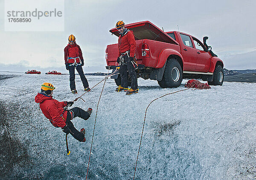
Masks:
[[[135,72],[136,64],[134,62],[136,42],[133,31],[125,28],[123,21],[116,23],[116,29],[120,33],[118,38],[118,58],[116,61],[120,65],[119,72],[121,76],[121,85],[116,88],[116,91],[127,90],[126,94],[138,93],[137,75]],[[131,77],[131,89],[128,89],[127,70]]]

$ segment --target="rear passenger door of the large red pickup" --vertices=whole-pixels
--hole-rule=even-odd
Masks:
[[[193,48],[193,44],[189,35],[180,34],[180,37],[182,41],[180,43],[180,50],[184,60],[184,70],[195,70],[196,49]]]

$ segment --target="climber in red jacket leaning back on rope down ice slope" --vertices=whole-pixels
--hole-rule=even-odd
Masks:
[[[42,110],[46,118],[49,119],[50,123],[54,127],[60,127],[63,132],[71,134],[76,140],[85,142],[84,134],[85,130],[82,128],[80,132],[74,127],[71,120],[79,117],[87,120],[91,113],[92,108],[87,111],[82,110],[79,107],[74,107],[70,110],[64,109],[66,106],[72,106],[73,101],[62,101],[59,102],[52,98],[52,93],[55,87],[51,83],[45,82],[41,85],[41,93],[35,96],[35,102],[39,103],[39,107]]]

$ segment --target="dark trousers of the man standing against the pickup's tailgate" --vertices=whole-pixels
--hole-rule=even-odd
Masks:
[[[124,60],[126,65],[122,64],[120,65],[120,76],[121,76],[121,86],[124,88],[128,88],[128,82],[127,82],[127,70],[129,73],[129,76],[131,77],[131,89],[137,90],[138,89],[138,82],[137,82],[137,75],[135,72],[135,68],[133,64],[129,61],[129,58],[127,54],[124,56]]]

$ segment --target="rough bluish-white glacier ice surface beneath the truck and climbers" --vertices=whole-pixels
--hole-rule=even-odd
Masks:
[[[104,76],[87,76],[90,87]],[[70,101],[83,87],[76,76],[73,95],[68,75],[21,76],[0,81],[0,101],[9,111],[10,134],[28,149],[30,165],[15,165],[12,176],[25,179],[84,180],[87,171],[96,105],[102,90],[99,84],[75,102],[73,107],[93,108],[91,117],[73,120],[86,131],[85,143],[68,136],[71,154],[67,156],[65,134],[53,127],[35,103],[43,82],[56,89],[53,97]],[[157,81],[138,79],[139,93],[116,93],[108,79],[96,120],[90,160],[90,180],[133,178],[145,109],[166,93],[183,90],[162,89]],[[234,180],[256,178],[256,84],[224,82],[209,90],[185,90],[154,101],[148,108],[136,180]],[[16,174],[15,174],[16,172]]]

